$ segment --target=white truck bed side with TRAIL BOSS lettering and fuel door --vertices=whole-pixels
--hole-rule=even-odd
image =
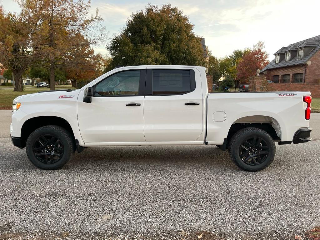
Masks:
[[[233,124],[257,122],[271,124],[281,141],[292,141],[298,129],[309,126],[303,96],[310,96],[310,92],[209,93],[206,141],[221,145]]]

